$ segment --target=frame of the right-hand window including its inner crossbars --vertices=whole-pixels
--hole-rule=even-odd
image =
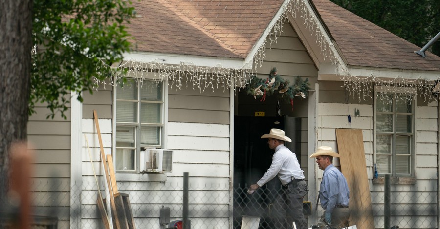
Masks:
[[[381,93],[392,93],[393,94],[393,131],[392,132],[380,132],[377,131],[376,128],[376,124],[377,124],[377,104],[378,104],[378,94]],[[409,174],[401,174],[401,173],[397,173],[396,174],[396,136],[399,135],[399,132],[396,132],[396,114],[399,114],[399,112],[396,112],[396,99],[395,99],[395,94],[411,94],[413,95],[412,98],[412,113],[405,113],[405,114],[412,114],[412,123],[411,123],[411,130],[412,132],[410,133],[405,133],[405,135],[411,135],[412,139],[411,139],[411,146],[409,148],[410,150],[410,154],[409,156],[411,157],[410,160],[410,173]],[[374,163],[377,164],[377,136],[378,133],[386,133],[386,134],[391,134],[391,137],[393,139],[393,144],[392,144],[392,150],[391,150],[391,176],[392,177],[415,177],[416,176],[416,107],[417,107],[417,89],[415,88],[406,88],[406,87],[390,87],[390,86],[374,86],[374,124],[373,124],[373,131],[374,131],[374,142],[373,142],[373,146],[374,146]],[[374,170],[374,167],[373,167]],[[379,173],[379,177],[384,177],[385,174],[388,173]]]

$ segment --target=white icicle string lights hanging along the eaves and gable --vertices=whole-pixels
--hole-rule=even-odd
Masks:
[[[269,48],[273,43],[277,42],[283,32],[283,23],[288,20],[288,17],[297,18],[299,16],[305,28],[310,35],[316,37],[316,44],[321,48],[321,55],[324,59],[329,59],[331,64],[335,66],[335,74],[340,76],[343,81],[343,87],[348,90],[349,94],[358,96],[361,99],[372,98],[374,86],[389,86],[389,87],[406,87],[416,88],[417,93],[424,96],[425,100],[431,101],[435,99],[431,92],[438,79],[423,79],[416,80],[404,79],[401,76],[396,76],[394,79],[384,79],[373,74],[367,77],[352,76],[348,71],[346,65],[339,56],[334,44],[330,38],[326,36],[325,30],[322,28],[320,21],[314,15],[313,9],[307,0],[290,0],[283,5],[283,13],[281,17],[269,29],[265,41],[260,46],[258,51],[254,54],[251,60],[254,69],[236,68],[230,69],[218,65],[216,67],[196,66],[192,64],[167,65],[161,60],[152,62],[138,62],[129,60],[118,67],[119,70],[127,69],[129,72],[136,72],[136,75],[144,78],[146,74],[154,74],[154,80],[161,81],[167,79],[168,85],[172,88],[181,89],[189,85],[194,89],[204,92],[206,90],[235,90],[236,87],[244,88],[252,76],[254,71],[261,67],[265,58],[266,45]],[[103,65],[105,65],[103,63]],[[110,67],[110,66],[102,66]],[[116,75],[117,78],[122,75]],[[96,82],[103,83],[103,82]],[[111,82],[113,83],[113,82]],[[186,84],[186,86],[184,86]],[[414,90],[410,90],[413,92]],[[386,95],[383,95],[386,96]],[[381,96],[381,97],[383,97]]]

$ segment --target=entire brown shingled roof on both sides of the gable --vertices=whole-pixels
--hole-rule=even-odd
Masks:
[[[129,33],[135,51],[244,59],[284,0],[141,0]],[[439,71],[440,57],[329,0],[311,0],[349,66]]]

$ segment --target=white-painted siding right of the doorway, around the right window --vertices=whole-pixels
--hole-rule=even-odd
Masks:
[[[326,95],[329,95],[327,92]],[[321,101],[321,100],[320,100]],[[354,116],[354,109],[360,116]],[[383,228],[384,187],[373,184],[374,174],[374,106],[371,104],[324,103],[318,104],[318,146],[337,149],[335,129],[362,129],[367,174],[376,228]],[[392,225],[409,225],[410,228],[437,228],[437,172],[438,172],[438,108],[437,104],[417,106],[415,111],[416,183],[391,186]],[[351,115],[351,123],[347,115]],[[337,164],[337,162],[335,162]],[[316,177],[322,172],[317,170]],[[317,183],[319,185],[319,183]]]

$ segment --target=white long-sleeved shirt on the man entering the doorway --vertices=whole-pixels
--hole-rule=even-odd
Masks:
[[[291,152],[289,148],[283,144],[275,148],[275,153],[272,156],[272,164],[264,173],[263,177],[257,181],[261,187],[265,183],[272,180],[276,175],[281,181],[281,184],[286,185],[295,179],[304,179],[304,171],[301,170],[298,159],[295,153]]]

